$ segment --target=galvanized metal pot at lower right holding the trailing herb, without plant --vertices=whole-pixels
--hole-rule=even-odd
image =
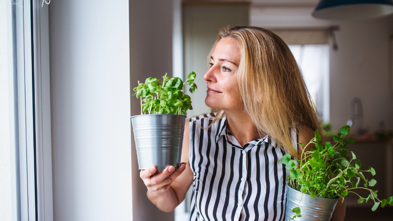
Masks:
[[[287,187],[285,221],[330,221],[339,197],[313,199],[309,194],[299,192],[288,185]],[[300,207],[302,217],[291,220],[295,216],[292,210],[296,207]]]

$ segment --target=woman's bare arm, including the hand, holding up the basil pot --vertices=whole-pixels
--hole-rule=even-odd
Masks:
[[[140,178],[147,187],[147,197],[163,212],[173,211],[182,202],[193,182],[193,172],[188,164],[190,146],[189,121],[184,128],[181,165],[174,169],[168,166],[158,172],[155,166],[140,171]]]

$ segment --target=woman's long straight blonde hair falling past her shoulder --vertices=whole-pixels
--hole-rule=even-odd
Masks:
[[[291,138],[291,129],[319,129],[317,112],[312,108],[302,73],[285,42],[272,31],[257,27],[232,27],[220,30],[217,43],[232,38],[239,44],[241,59],[238,84],[245,110],[259,134],[269,134],[299,158]],[[215,121],[225,112],[218,112]],[[296,144],[297,145],[297,144]]]

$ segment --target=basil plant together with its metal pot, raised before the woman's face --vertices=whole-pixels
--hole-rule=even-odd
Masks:
[[[157,169],[180,165],[186,111],[192,110],[191,97],[184,94],[184,84],[190,92],[197,91],[196,74],[191,72],[186,82],[165,74],[163,81],[148,78],[134,88],[140,98],[140,115],[132,116],[139,169],[155,165]]]

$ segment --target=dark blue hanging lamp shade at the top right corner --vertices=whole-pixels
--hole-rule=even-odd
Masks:
[[[393,0],[321,0],[311,13],[328,20],[376,18],[393,13]]]

